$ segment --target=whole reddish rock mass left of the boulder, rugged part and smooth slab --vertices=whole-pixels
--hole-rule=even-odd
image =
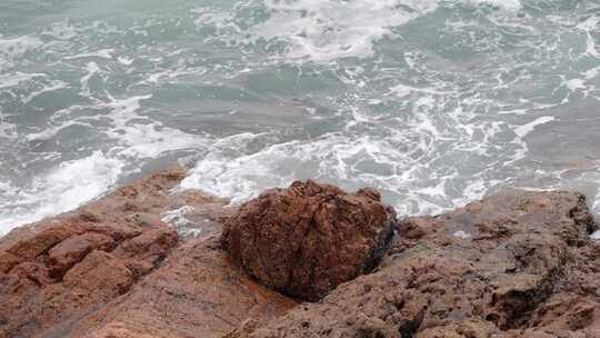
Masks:
[[[0,238],[0,337],[217,338],[297,304],[257,285],[220,250],[226,201],[171,193],[166,171]],[[173,206],[208,237],[178,237]]]

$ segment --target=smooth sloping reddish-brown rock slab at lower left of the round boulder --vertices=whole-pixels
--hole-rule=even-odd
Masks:
[[[80,321],[72,337],[219,338],[252,318],[264,321],[297,304],[231,265],[218,238],[192,240],[124,297]]]

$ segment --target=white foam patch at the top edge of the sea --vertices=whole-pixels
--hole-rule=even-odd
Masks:
[[[267,0],[269,18],[242,30],[231,13],[196,10],[199,27],[217,26],[244,42],[283,41],[288,60],[329,62],[369,57],[373,42],[438,7],[438,0]],[[249,34],[250,37],[246,37]]]

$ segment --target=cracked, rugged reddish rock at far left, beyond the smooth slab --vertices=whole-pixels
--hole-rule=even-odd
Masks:
[[[154,270],[178,243],[160,221],[178,181],[153,175],[0,238],[0,337],[70,337],[73,322]],[[156,215],[139,222],[124,203]]]

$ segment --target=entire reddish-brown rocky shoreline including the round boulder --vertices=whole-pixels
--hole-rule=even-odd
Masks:
[[[402,218],[312,181],[239,207],[174,168],[0,238],[0,337],[600,337],[586,197]],[[197,236],[163,221],[190,210]]]

